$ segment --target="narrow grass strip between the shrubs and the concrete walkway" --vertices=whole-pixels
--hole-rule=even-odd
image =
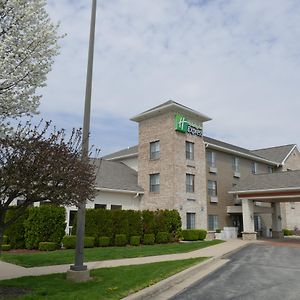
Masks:
[[[120,258],[143,257],[173,253],[184,253],[222,243],[220,240],[191,243],[157,244],[151,246],[127,246],[89,248],[84,250],[85,262]],[[50,266],[74,263],[75,250],[57,250],[37,253],[5,253],[0,259],[23,267]]]

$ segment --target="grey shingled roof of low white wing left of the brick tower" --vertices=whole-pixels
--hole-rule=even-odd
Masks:
[[[112,190],[142,192],[137,172],[121,162],[97,159],[96,187]]]

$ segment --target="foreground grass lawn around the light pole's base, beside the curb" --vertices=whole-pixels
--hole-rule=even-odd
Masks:
[[[120,299],[205,259],[96,269],[91,270],[93,279],[84,283],[69,282],[65,274],[3,280],[0,291],[1,287],[28,289],[29,293],[18,299]],[[1,299],[9,298],[6,294]]]

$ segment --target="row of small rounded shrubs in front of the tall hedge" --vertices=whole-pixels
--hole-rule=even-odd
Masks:
[[[84,238],[84,247],[85,248],[93,248],[95,246],[100,247],[108,247],[108,246],[139,246],[141,244],[144,245],[153,245],[157,244],[164,244],[171,241],[171,236],[168,232],[158,232],[155,236],[154,233],[146,233],[143,237],[139,235],[133,235],[129,238],[126,234],[120,233],[116,234],[114,239],[112,240],[108,236],[101,236],[99,237],[98,241],[94,237],[85,237]],[[41,244],[41,243],[40,243]],[[76,236],[75,235],[66,235],[62,239],[63,247],[66,249],[75,249],[76,246]],[[48,250],[49,249],[45,249]]]

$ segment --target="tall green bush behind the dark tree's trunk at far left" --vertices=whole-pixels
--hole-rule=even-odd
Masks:
[[[17,206],[10,206],[5,215],[5,222],[8,222],[14,217],[14,214],[18,209]],[[8,236],[9,243],[13,249],[25,248],[24,221],[28,218],[28,213],[28,209],[26,209],[24,213],[14,220],[14,222],[4,231],[4,234]]]

